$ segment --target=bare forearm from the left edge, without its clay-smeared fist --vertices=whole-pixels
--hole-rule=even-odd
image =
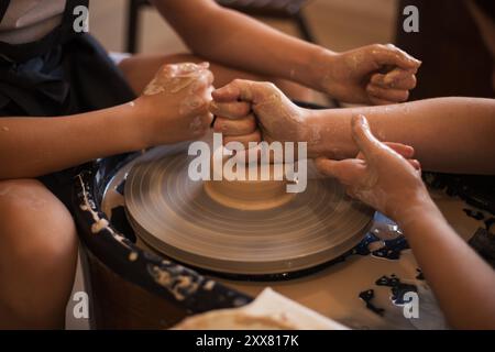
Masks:
[[[37,177],[143,147],[130,105],[59,118],[0,119],[0,179]]]

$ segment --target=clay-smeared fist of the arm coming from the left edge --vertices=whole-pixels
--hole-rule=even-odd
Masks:
[[[144,92],[134,100],[144,117],[138,124],[145,145],[153,146],[201,138],[212,116],[208,110],[213,90],[209,64],[163,66]]]

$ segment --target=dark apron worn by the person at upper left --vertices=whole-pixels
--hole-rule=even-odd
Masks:
[[[0,19],[10,2],[1,1]],[[36,42],[0,42],[0,117],[68,116],[135,98],[97,41],[73,30],[77,6],[87,7],[88,0],[67,0],[61,25]],[[74,167],[40,180],[67,206],[76,172]]]

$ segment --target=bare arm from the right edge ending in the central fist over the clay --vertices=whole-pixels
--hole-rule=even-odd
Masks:
[[[495,174],[494,99],[437,98],[383,107],[307,110],[271,84],[245,80],[218,89],[213,98],[211,111],[221,117],[216,129],[232,140],[256,140],[261,133],[268,141],[308,142],[310,156],[353,157],[358,150],[350,122],[363,113],[380,140],[414,146],[425,169]],[[249,129],[237,131],[250,110],[244,107],[237,112],[242,103],[254,112],[257,134]]]

